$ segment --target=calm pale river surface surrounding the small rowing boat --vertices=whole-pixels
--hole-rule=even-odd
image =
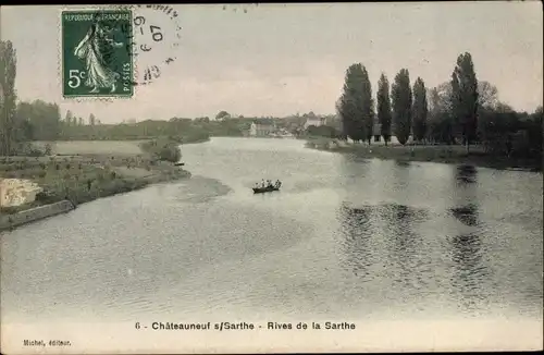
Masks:
[[[191,180],[3,233],[2,321],[542,319],[541,174],[288,139],[183,155]],[[263,178],[284,187],[252,195]]]

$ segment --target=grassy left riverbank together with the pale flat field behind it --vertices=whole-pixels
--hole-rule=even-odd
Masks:
[[[157,160],[134,142],[63,142],[55,156],[0,157],[0,178],[28,179],[44,188],[36,201],[3,208],[15,213],[69,199],[78,205],[145,187],[151,183],[189,178],[172,162]]]

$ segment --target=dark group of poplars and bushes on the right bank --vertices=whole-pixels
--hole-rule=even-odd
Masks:
[[[378,82],[374,112],[372,87],[361,63],[346,70],[336,102],[341,138],[371,144],[374,135],[385,144],[394,135],[399,144],[482,145],[495,154],[542,156],[542,106],[533,113],[516,112],[498,101],[497,89],[479,82],[470,53],[457,58],[448,82],[428,89],[417,77],[410,84],[400,69],[390,88],[384,73]],[[376,128],[378,127],[378,128]]]

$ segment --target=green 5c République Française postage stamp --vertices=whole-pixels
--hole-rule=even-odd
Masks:
[[[61,16],[63,96],[132,97],[132,11],[63,11]]]

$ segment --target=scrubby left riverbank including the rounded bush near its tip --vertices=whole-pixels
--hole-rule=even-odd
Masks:
[[[140,154],[0,157],[0,178],[30,180],[44,189],[35,201],[1,208],[0,215],[13,215],[61,200],[69,200],[76,207],[152,183],[190,178],[188,171],[175,164],[181,159],[176,142],[152,139],[141,144],[140,149]]]

